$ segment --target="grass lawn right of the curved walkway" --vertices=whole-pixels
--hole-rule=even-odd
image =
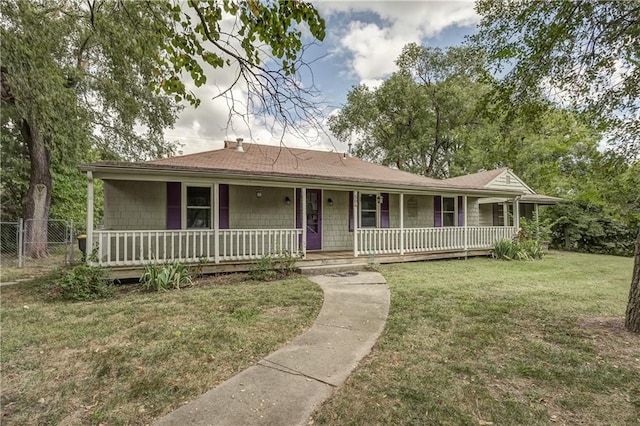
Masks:
[[[380,267],[380,340],[314,416],[336,425],[639,424],[632,259],[552,252]]]

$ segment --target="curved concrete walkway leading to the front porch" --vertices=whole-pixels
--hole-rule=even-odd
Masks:
[[[389,311],[389,288],[377,272],[309,278],[324,291],[311,328],[155,424],[306,425],[369,353]]]

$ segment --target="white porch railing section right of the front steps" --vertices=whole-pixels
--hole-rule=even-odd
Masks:
[[[371,255],[488,249],[498,240],[513,238],[515,232],[513,226],[359,228],[356,235],[358,255]]]

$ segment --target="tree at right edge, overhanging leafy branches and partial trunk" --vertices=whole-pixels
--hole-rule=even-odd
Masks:
[[[530,93],[572,105],[628,158],[640,152],[640,2],[479,0],[475,41],[503,72],[514,103]],[[640,246],[640,232],[636,246]],[[626,327],[640,333],[640,256]]]

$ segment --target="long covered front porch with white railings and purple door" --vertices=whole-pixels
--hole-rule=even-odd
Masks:
[[[92,173],[87,175],[90,228],[94,191]],[[178,261],[224,271],[234,264],[246,269],[267,256],[294,257],[302,264],[319,252],[347,252],[358,262],[380,256],[396,261],[420,254],[466,256],[490,250],[517,229],[517,219],[514,226],[478,226],[476,194],[218,179],[103,182],[105,217],[87,232],[88,261],[110,268]],[[157,227],[162,224],[164,229]]]

